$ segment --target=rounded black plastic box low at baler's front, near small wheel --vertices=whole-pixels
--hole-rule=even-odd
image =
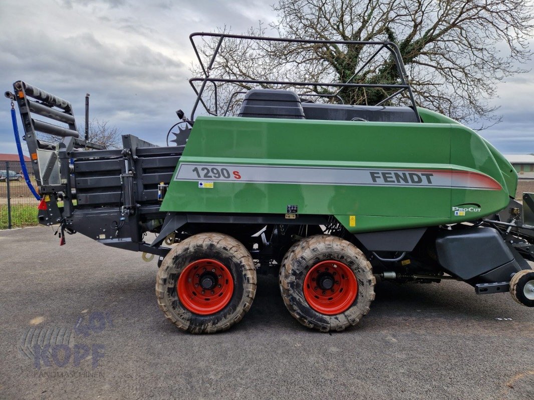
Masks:
[[[443,268],[465,281],[514,260],[498,231],[488,227],[445,230],[436,253]]]

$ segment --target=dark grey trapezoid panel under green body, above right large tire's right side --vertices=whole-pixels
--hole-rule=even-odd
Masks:
[[[355,234],[369,251],[412,251],[427,228],[386,230]]]

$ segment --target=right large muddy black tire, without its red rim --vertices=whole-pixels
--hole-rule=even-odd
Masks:
[[[305,276],[313,266],[326,260],[344,263],[358,283],[356,299],[340,314],[321,314],[304,297]],[[376,279],[370,262],[354,244],[336,236],[317,235],[304,238],[289,249],[282,260],[279,282],[289,313],[309,328],[328,332],[354,326],[369,312],[375,296]]]

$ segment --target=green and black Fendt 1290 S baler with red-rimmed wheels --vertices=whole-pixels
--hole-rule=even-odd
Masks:
[[[199,36],[217,44],[207,66]],[[380,279],[457,279],[534,306],[534,196],[514,200],[516,172],[480,135],[417,107],[394,43],[190,39],[204,75],[190,80],[191,117],[177,111],[176,146],[123,135],[122,149],[105,149],[78,138],[69,102],[21,81],[6,93],[19,106],[42,196],[39,222],[59,224],[62,241],[78,232],[157,255],[159,306],[193,333],[239,322],[258,271],[279,274],[289,312],[320,331],[356,325]],[[363,66],[386,52],[398,78],[362,82],[360,70],[347,83],[210,77],[228,39],[368,46]],[[225,108],[216,96],[222,85],[237,87]],[[381,90],[383,100],[343,103],[343,91],[358,90]],[[199,105],[206,115],[194,118]],[[155,239],[145,242],[146,233]]]

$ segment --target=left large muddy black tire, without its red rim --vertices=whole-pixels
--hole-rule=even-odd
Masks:
[[[233,294],[227,305],[210,314],[195,314],[180,301],[177,283],[190,263],[201,259],[221,262],[233,278]],[[156,277],[156,298],[163,314],[179,329],[191,333],[215,333],[241,321],[256,294],[254,261],[245,246],[219,233],[193,235],[176,245],[161,263]]]

